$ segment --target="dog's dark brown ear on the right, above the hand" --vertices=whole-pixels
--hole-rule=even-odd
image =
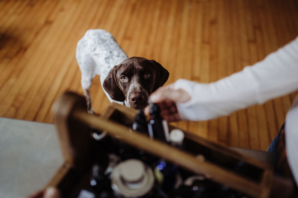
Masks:
[[[153,86],[152,92],[156,91],[157,88],[164,85],[165,82],[167,82],[167,79],[169,78],[170,73],[164,69],[164,67],[159,64],[158,62],[154,60],[150,60],[151,63],[153,63],[156,74],[155,74],[155,83]]]

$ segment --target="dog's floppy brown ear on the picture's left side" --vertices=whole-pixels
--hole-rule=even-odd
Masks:
[[[120,87],[116,80],[116,69],[117,66],[114,66],[113,69],[109,72],[108,76],[103,81],[103,88],[110,95],[111,99],[123,102],[125,101],[125,96],[120,90]]]

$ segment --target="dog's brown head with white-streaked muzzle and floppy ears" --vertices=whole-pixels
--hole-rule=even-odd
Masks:
[[[162,86],[169,72],[154,60],[141,57],[128,58],[109,72],[103,88],[116,101],[126,101],[126,106],[144,109],[149,95]]]

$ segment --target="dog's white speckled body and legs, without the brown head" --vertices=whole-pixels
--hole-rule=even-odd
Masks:
[[[100,75],[100,83],[107,77],[110,70],[127,59],[128,56],[118,45],[115,38],[103,29],[90,29],[87,30],[82,39],[77,43],[76,59],[82,72],[81,84],[86,96],[87,103],[90,101],[90,87],[93,78]],[[110,102],[123,102],[114,101],[109,94],[103,90],[107,95]],[[91,109],[91,104],[88,104],[88,109]]]

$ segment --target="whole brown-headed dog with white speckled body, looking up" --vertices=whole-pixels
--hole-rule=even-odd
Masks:
[[[114,37],[103,29],[86,31],[77,43],[76,59],[89,113],[94,113],[90,87],[96,75],[100,75],[100,83],[110,102],[137,110],[148,105],[149,95],[169,77],[169,72],[154,60],[128,58]]]

